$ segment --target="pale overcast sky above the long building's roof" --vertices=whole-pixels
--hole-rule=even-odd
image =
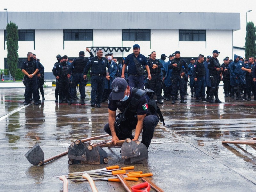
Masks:
[[[247,21],[256,24],[256,0],[0,0],[0,11],[77,12],[233,12],[240,13],[240,30],[233,33],[233,45],[244,47]],[[0,18],[1,19],[1,18]],[[86,19],[86,18],[85,18]],[[5,22],[1,20],[1,22]],[[152,21],[154,22],[154,21]],[[196,21],[195,21],[196,22]]]

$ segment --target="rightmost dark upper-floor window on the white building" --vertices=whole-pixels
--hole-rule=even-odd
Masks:
[[[180,41],[205,41],[205,30],[179,30]]]

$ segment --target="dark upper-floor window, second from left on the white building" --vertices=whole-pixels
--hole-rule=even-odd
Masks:
[[[93,30],[63,30],[64,41],[92,41]]]

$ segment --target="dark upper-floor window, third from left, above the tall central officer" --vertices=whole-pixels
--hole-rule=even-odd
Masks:
[[[150,41],[150,30],[122,30],[123,41]]]

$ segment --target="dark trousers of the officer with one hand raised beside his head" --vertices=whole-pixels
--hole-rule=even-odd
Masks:
[[[87,84],[87,79],[84,80],[83,76],[84,76],[83,73],[76,73],[72,77],[71,93],[70,93],[70,98],[72,100],[76,98],[76,86],[78,83],[80,87],[81,99],[85,98],[85,86]]]

